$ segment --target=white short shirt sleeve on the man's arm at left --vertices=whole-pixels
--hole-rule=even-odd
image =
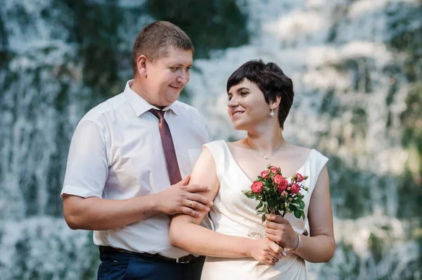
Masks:
[[[82,120],[70,142],[63,193],[101,198],[108,177],[107,146],[101,125]]]

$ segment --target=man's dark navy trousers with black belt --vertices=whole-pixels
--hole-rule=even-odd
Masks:
[[[176,263],[130,253],[101,253],[98,280],[200,280],[205,257]]]

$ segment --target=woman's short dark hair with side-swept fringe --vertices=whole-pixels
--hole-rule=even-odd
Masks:
[[[265,101],[274,101],[276,96],[281,97],[279,106],[279,124],[283,129],[284,121],[293,104],[293,82],[284,75],[283,70],[276,63],[263,63],[259,61],[248,61],[231,74],[227,80],[227,93],[231,87],[240,84],[243,79],[248,79],[260,88],[264,94]]]

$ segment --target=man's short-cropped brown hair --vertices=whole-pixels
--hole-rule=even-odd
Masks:
[[[143,27],[136,36],[132,49],[132,67],[137,72],[136,60],[144,55],[148,61],[155,62],[167,56],[169,46],[183,51],[195,51],[191,39],[176,25],[168,21],[155,21]]]

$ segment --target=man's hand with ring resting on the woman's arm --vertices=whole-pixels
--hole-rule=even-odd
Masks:
[[[212,201],[197,192],[210,191],[209,186],[188,185],[191,177],[186,175],[179,183],[169,186],[165,191],[158,193],[158,210],[167,215],[186,214],[200,217],[200,211],[210,211]]]

